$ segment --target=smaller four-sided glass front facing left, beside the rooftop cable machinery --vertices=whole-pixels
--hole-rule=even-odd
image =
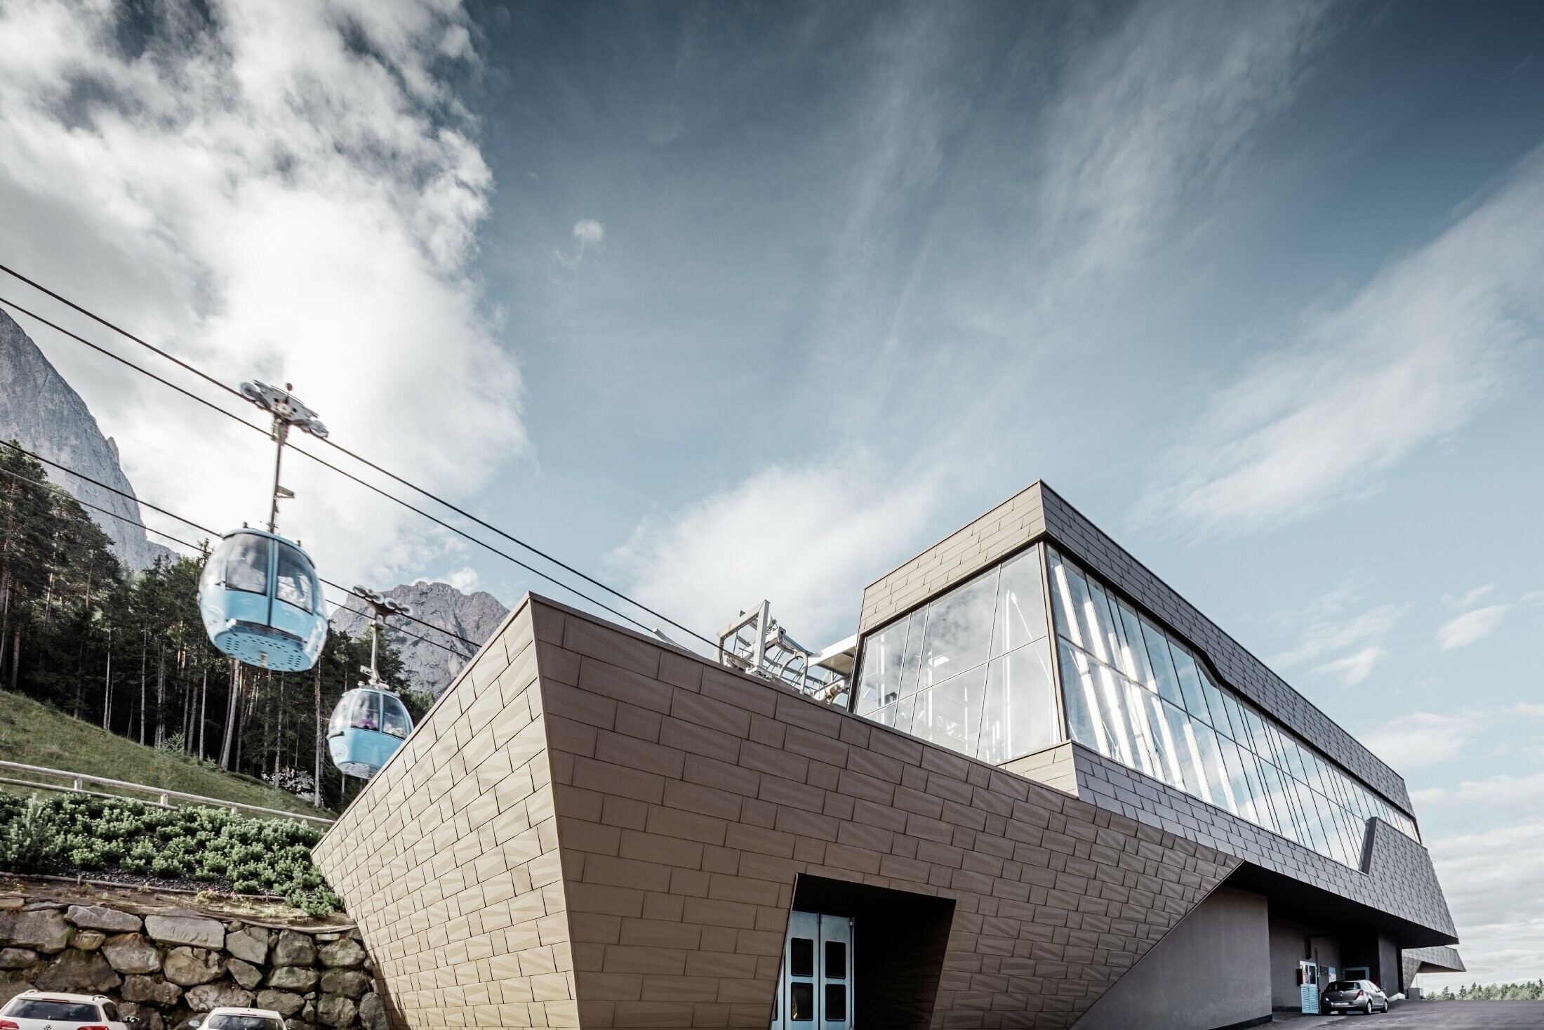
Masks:
[[[1041,548],[863,641],[852,710],[1001,764],[1061,743]]]

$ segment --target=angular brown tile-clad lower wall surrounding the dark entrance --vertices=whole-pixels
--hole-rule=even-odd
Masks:
[[[1237,865],[539,598],[317,859],[397,1027],[764,1027],[800,876],[954,902],[933,1027],[1067,1027]]]

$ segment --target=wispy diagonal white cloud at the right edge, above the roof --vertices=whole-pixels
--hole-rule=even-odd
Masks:
[[[1544,150],[1424,249],[1218,389],[1138,511],[1200,531],[1292,522],[1376,491],[1507,389],[1536,341]]]

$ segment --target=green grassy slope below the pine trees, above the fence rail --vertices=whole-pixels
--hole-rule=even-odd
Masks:
[[[184,791],[222,801],[261,805],[286,812],[327,814],[293,794],[272,788],[253,777],[204,769],[190,761],[181,761],[176,755],[136,744],[124,737],[108,734],[99,726],[69,718],[31,698],[6,690],[0,690],[0,758],[168,791]],[[32,777],[14,769],[0,769],[0,775],[51,781],[46,777]],[[25,789],[11,788],[11,784],[0,786]],[[108,788],[97,789],[111,792]],[[153,800],[141,794],[127,795]]]

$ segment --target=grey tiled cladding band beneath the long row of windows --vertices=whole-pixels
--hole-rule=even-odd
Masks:
[[[1081,744],[1072,747],[1078,795],[1084,801],[1456,937],[1431,856],[1383,820],[1370,820],[1371,856],[1365,871],[1351,869]]]

